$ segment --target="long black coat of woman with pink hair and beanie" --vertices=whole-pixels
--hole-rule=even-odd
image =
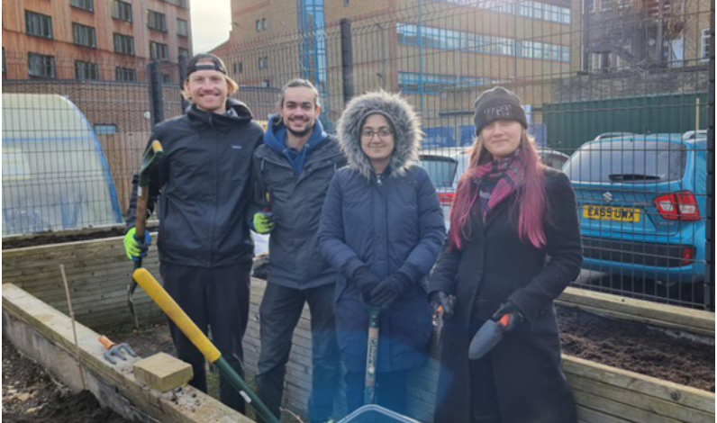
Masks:
[[[508,300],[526,321],[489,353],[503,421],[576,422],[574,399],[560,362],[553,300],[580,271],[580,228],[567,176],[551,169],[545,175],[546,247],[538,249],[519,238],[509,212],[513,194],[489,213],[485,223],[475,212],[473,233],[463,240],[463,249],[451,252],[447,241],[431,274],[431,293],[444,291],[458,299],[441,337],[436,423],[470,422],[468,345],[479,325]]]

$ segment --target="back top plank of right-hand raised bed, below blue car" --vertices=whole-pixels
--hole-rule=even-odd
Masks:
[[[714,336],[714,313],[685,309],[657,302],[646,302],[625,298],[609,293],[595,293],[579,288],[568,287],[559,297],[562,302],[584,305],[606,311],[617,311],[632,316],[664,321],[685,328],[703,329]]]

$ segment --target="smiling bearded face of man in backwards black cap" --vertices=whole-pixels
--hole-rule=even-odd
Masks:
[[[199,61],[198,64],[213,65],[213,62]],[[186,81],[185,91],[199,109],[219,114],[226,112],[229,83],[222,72],[218,70],[193,72]]]

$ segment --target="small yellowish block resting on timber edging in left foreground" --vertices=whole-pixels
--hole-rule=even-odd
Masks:
[[[156,391],[168,392],[191,381],[194,373],[177,357],[158,353],[135,363],[134,377]]]

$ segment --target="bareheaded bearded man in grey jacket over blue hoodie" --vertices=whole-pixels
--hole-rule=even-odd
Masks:
[[[304,303],[311,311],[312,422],[331,419],[339,374],[333,293],[336,273],[316,244],[323,199],[331,178],[346,164],[339,145],[323,130],[319,92],[304,79],[281,91],[279,113],[268,122],[264,145],[254,153],[257,203],[254,229],[271,232],[268,284],[259,309],[259,397],[279,416],[292,334]]]

